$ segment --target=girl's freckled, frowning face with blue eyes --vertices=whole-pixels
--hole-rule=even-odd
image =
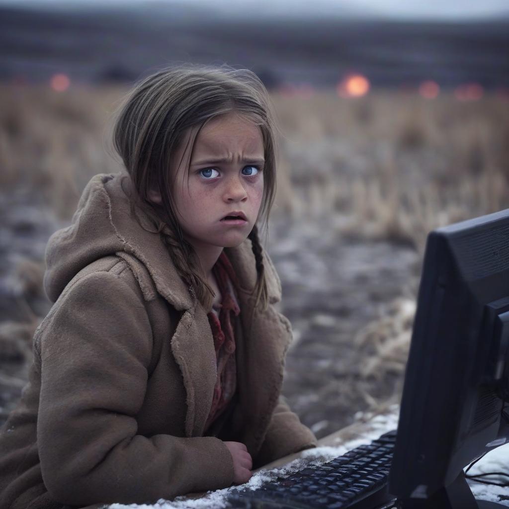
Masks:
[[[205,124],[190,158],[190,148],[185,142],[181,145],[172,161],[171,172],[176,178],[171,192],[186,240],[204,254],[238,246],[252,230],[262,203],[264,145],[260,128],[229,112]],[[189,175],[182,167],[187,161]],[[246,220],[223,220],[238,213]]]

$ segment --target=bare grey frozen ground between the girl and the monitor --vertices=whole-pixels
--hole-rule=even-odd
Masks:
[[[401,374],[362,376],[372,346],[354,338],[409,292],[418,256],[408,246],[344,238],[332,220],[273,221],[267,249],[282,282],[281,312],[294,331],[283,392],[320,438],[399,390]]]

